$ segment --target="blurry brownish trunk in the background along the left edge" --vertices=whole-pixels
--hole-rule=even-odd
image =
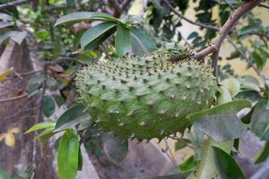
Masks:
[[[10,175],[14,175],[16,174],[14,166],[21,164],[25,171],[34,167],[37,174],[35,178],[55,178],[54,172],[50,169],[52,160],[48,146],[40,149],[39,141],[33,140],[33,133],[23,134],[39,121],[39,96],[28,98],[25,95],[29,88],[30,75],[20,75],[23,72],[34,71],[26,43],[20,46],[11,42],[5,47],[0,58],[0,73],[6,72],[11,67],[14,69],[13,74],[0,83],[0,133],[7,132],[13,127],[20,128],[21,132],[15,134],[14,147],[6,146],[4,141],[0,142],[0,167]]]

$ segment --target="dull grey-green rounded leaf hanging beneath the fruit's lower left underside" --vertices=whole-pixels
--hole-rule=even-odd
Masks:
[[[102,136],[103,148],[108,159],[115,165],[119,165],[128,152],[128,141],[122,141],[113,134]]]

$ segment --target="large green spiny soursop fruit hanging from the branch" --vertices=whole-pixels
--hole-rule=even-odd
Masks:
[[[177,57],[176,57],[177,56]],[[217,86],[212,70],[178,49],[83,67],[75,85],[82,104],[104,132],[138,141],[183,132],[186,116],[211,107]]]

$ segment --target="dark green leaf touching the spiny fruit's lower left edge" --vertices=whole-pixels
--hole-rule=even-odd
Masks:
[[[90,119],[90,115],[84,112],[82,105],[76,105],[65,111],[57,120],[55,132],[63,131],[67,128],[72,128],[76,124]]]

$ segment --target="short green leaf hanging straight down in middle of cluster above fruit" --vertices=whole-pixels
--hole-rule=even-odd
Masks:
[[[124,56],[130,49],[130,29],[123,25],[117,25],[117,32],[115,36],[115,47],[117,56]]]

